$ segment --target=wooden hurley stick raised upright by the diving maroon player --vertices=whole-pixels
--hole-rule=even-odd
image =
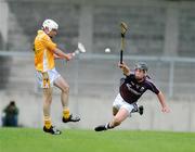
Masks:
[[[123,55],[123,50],[125,50],[125,36],[128,29],[128,26],[125,22],[121,22],[120,27],[121,27],[120,64],[122,64],[122,61],[123,61],[122,55]]]

